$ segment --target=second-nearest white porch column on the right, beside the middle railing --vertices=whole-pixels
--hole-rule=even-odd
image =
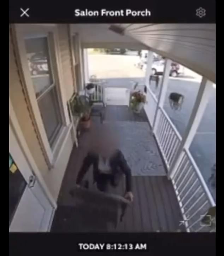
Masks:
[[[158,110],[159,107],[163,107],[164,101],[165,101],[165,96],[166,96],[166,91],[167,91],[167,86],[168,86],[168,81],[169,81],[169,76],[170,76],[170,68],[171,68],[171,60],[166,59],[165,66],[164,66],[164,71],[163,71],[163,79],[161,82],[161,87],[160,87],[160,92],[159,92],[159,98],[158,98],[158,103],[157,103],[157,108],[155,110],[155,117],[153,121],[153,133],[155,132],[158,124]]]

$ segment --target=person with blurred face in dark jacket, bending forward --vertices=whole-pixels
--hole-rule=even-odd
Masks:
[[[99,137],[97,136],[96,138]],[[116,138],[105,128],[100,131],[100,139],[95,142],[94,150],[89,151],[83,160],[76,179],[77,185],[81,184],[91,165],[93,165],[94,182],[96,182],[96,186],[100,191],[107,192],[109,185],[116,187],[122,176],[125,175],[126,193],[124,197],[130,201],[133,200],[131,169],[123,153],[117,149]]]

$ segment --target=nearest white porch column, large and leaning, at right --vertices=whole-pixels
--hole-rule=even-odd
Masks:
[[[170,167],[170,171],[168,173],[168,176],[170,178],[172,178],[172,176],[175,174],[177,167],[179,166],[179,164],[181,162],[181,159],[183,157],[183,149],[189,149],[190,144],[191,144],[192,140],[194,139],[194,135],[196,134],[196,131],[200,124],[201,118],[206,109],[208,100],[210,98],[212,85],[213,85],[213,83],[211,81],[208,81],[207,78],[205,78],[205,77],[202,78],[201,85],[200,85],[200,88],[198,91],[198,95],[195,100],[194,107],[191,112],[188,124],[187,124],[187,128],[183,135],[181,145],[179,146],[176,157],[173,159],[173,163],[172,163],[172,165]]]

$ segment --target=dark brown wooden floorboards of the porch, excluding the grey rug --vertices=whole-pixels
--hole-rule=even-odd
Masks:
[[[97,118],[94,120],[93,125],[100,125]],[[144,111],[136,115],[126,106],[107,106],[105,120],[147,122],[147,117]],[[86,156],[89,136],[91,133],[83,134],[79,147],[74,146],[71,152],[51,232],[177,232],[178,229],[185,232],[184,226],[180,226],[182,216],[173,186],[166,176],[132,176],[134,202],[116,229],[101,223],[99,216],[93,216],[94,225],[88,220],[80,223],[69,191],[75,185],[77,172]],[[90,182],[91,175],[89,171]],[[124,194],[124,182],[120,182],[114,193]]]

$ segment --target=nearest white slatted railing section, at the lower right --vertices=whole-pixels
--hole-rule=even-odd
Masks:
[[[216,203],[189,150],[183,150],[181,162],[171,178],[188,232],[213,232],[201,219]]]

